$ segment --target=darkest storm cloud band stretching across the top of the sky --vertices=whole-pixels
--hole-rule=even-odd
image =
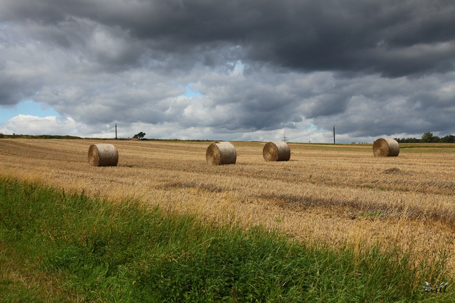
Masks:
[[[187,56],[208,55],[225,43],[240,45],[243,60],[303,71],[396,77],[454,68],[455,3],[444,0],[9,0],[3,7],[5,20],[60,26],[88,18],[120,27],[155,50]]]

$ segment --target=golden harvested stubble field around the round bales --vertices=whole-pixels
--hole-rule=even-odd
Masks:
[[[87,163],[96,143],[116,145],[117,167]],[[454,251],[455,144],[400,144],[398,157],[375,158],[372,144],[290,143],[289,162],[265,162],[265,142],[232,142],[237,163],[210,166],[210,143],[0,139],[0,176],[261,224],[315,244],[412,246],[416,260]]]

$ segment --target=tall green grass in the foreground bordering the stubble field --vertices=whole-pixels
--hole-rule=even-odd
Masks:
[[[453,301],[451,284],[421,292],[424,281],[447,279],[444,256],[418,265],[412,256],[314,248],[261,228],[0,180],[2,302]]]

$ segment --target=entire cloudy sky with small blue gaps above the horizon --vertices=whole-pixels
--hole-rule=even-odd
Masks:
[[[455,2],[2,0],[0,111],[22,134],[455,134]]]

